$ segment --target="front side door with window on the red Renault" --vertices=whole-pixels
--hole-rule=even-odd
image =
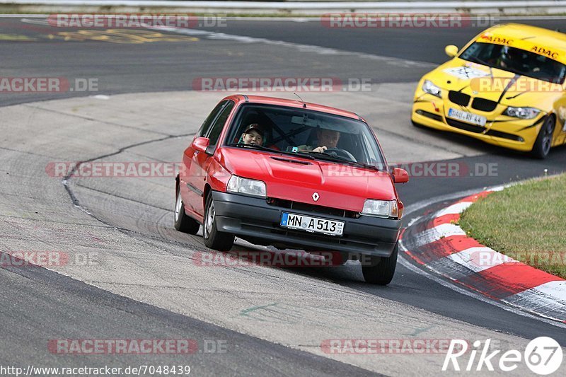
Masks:
[[[216,144],[219,143],[219,137],[226,125],[226,120],[230,116],[235,103],[233,100],[228,100],[221,108],[219,115],[208,129],[208,132],[203,135],[209,139],[209,149],[215,150]],[[190,191],[189,205],[200,216],[204,214],[204,185],[206,185],[207,170],[210,164],[210,156],[207,153],[193,151],[192,161],[189,167],[189,174],[187,176],[187,188]]]

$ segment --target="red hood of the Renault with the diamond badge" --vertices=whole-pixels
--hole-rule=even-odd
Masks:
[[[386,172],[230,147],[221,149],[220,158],[232,174],[265,182],[268,197],[349,211],[362,211],[366,199],[397,197]],[[313,199],[315,192],[318,200]]]

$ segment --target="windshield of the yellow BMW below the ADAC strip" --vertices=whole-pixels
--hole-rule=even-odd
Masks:
[[[503,69],[551,83],[562,84],[566,76],[564,64],[550,57],[505,45],[474,42],[459,57],[468,62]]]

